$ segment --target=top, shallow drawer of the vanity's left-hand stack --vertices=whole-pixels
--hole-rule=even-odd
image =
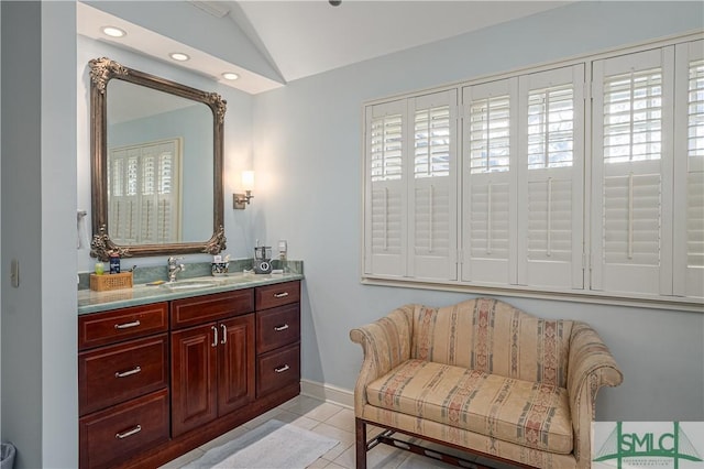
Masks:
[[[167,303],[78,316],[78,350],[168,330]]]

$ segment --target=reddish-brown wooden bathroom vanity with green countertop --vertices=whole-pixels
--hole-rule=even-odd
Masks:
[[[298,395],[300,279],[79,295],[80,468],[158,467]]]

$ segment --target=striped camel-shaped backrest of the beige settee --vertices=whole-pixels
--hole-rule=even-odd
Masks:
[[[410,356],[566,388],[572,321],[546,320],[481,298],[414,310]]]

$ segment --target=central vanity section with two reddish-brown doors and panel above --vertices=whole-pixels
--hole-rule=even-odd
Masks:
[[[252,301],[243,301],[243,292]],[[172,324],[196,323],[187,312],[198,307],[208,318],[224,318],[172,332],[173,436],[254,400],[253,306],[251,290],[172,303]]]

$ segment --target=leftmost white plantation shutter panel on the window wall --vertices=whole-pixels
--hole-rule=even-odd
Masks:
[[[365,111],[365,273],[404,276],[407,254],[407,103],[397,100]]]

